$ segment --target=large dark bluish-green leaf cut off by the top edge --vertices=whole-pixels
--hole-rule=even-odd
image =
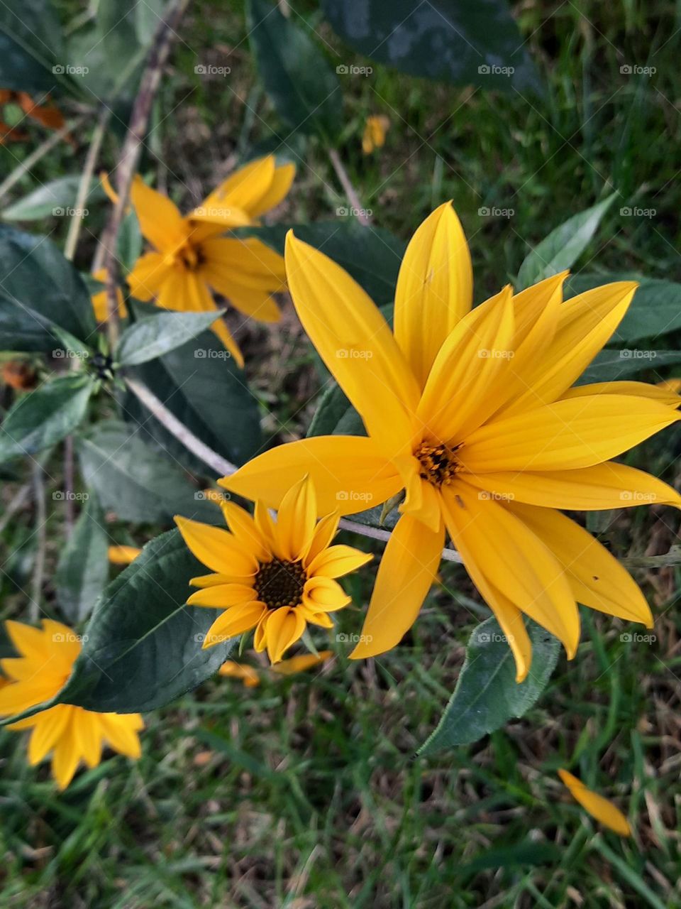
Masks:
[[[506,0],[323,0],[322,5],[353,50],[401,73],[507,92],[540,88]],[[349,64],[336,72],[346,80],[371,75]]]

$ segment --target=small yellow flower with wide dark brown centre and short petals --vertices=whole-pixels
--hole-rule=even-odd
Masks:
[[[212,624],[203,648],[255,629],[254,646],[267,649],[271,663],[298,641],[307,623],[332,628],[329,613],[350,603],[335,579],[370,561],[345,545],[331,545],[340,515],[317,522],[317,501],[305,476],[283,496],[274,522],[262,503],[251,516],[233,502],[222,502],[230,530],[175,517],[184,542],[216,574],[195,577],[201,587],[192,606],[224,610]]]

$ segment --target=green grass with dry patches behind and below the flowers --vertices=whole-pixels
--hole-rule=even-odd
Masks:
[[[332,59],[349,62],[315,7],[295,6],[319,26]],[[433,205],[454,198],[482,298],[517,273],[528,244],[612,185],[622,206],[655,208],[656,215],[626,218],[614,205],[579,265],[681,280],[677,7],[661,0],[528,3],[518,13],[547,85],[543,99],[427,84],[380,66],[370,79],[343,83],[340,150],[363,204],[376,224],[407,238]],[[216,0],[197,2],[183,26],[154,135],[163,165],[149,155],[144,167],[185,205],[211,188],[225,160],[276,127],[246,45],[233,55],[238,65],[228,81],[204,84],[193,75],[197,57],[220,65],[243,34],[241,5],[225,10]],[[623,75],[626,63],[655,65],[656,76]],[[367,158],[360,135],[370,113],[387,114],[391,126],[385,148]],[[283,152],[298,141],[286,139]],[[57,149],[17,195],[77,172],[84,147]],[[8,167],[24,154],[0,148]],[[106,155],[111,164],[114,144]],[[307,144],[281,220],[334,217],[344,202],[324,151]],[[513,215],[482,217],[484,205]],[[101,217],[95,212],[84,232],[84,268]],[[272,411],[266,425],[285,425],[280,437],[304,434],[318,380],[290,312],[267,332],[249,327],[244,342],[252,384]],[[680,448],[681,434],[668,431],[631,463],[677,484]],[[60,469],[56,458],[57,482]],[[23,479],[5,484],[5,501]],[[34,520],[29,503],[3,534],[3,617],[25,616]],[[638,555],[666,553],[677,526],[675,514],[651,508],[609,515],[595,529],[615,553]],[[49,529],[48,567],[62,545],[58,514]],[[142,542],[157,529],[133,528],[132,539]],[[147,717],[138,764],[110,757],[63,795],[46,768],[27,767],[23,737],[0,732],[2,904],[681,906],[681,577],[678,567],[635,574],[656,614],[655,641],[627,641],[622,634],[631,628],[584,611],[577,660],[561,657],[523,720],[428,760],[415,751],[456,683],[470,629],[487,614],[450,564],[418,624],[390,654],[353,664],[347,646],[336,643],[335,660],[314,674],[265,677],[255,689],[214,680]],[[341,616],[348,633],[360,626],[370,579],[353,584],[354,604]],[[47,584],[48,605],[51,596]],[[597,832],[558,783],[559,766],[615,798],[636,828],[634,839]]]

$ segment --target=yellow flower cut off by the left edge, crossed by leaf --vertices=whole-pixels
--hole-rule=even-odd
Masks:
[[[16,651],[21,654],[0,661],[9,679],[0,690],[0,715],[20,714],[43,704],[60,691],[80,653],[80,639],[67,625],[43,619],[42,628],[5,622]],[[102,760],[102,745],[136,759],[140,756],[140,714],[98,714],[71,704],[57,704],[9,729],[32,729],[28,761],[32,766],[52,752],[52,775],[60,789],[74,777],[81,760],[96,767]]]

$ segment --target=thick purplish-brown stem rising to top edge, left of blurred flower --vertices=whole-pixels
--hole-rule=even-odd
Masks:
[[[156,29],[152,47],[147,57],[146,68],[140,82],[140,89],[133,105],[133,113],[130,117],[121,157],[116,166],[115,182],[118,198],[102,235],[104,268],[106,269],[106,306],[108,310],[106,325],[109,333],[109,344],[112,349],[118,343],[118,303],[116,296],[119,285],[119,271],[115,255],[116,241],[123,223],[123,215],[128,205],[133,176],[140,159],[144,134],[152,112],[153,99],[161,83],[163,66],[170,53],[175,29],[179,25],[189,2],[190,0],[171,0],[165,17]]]

